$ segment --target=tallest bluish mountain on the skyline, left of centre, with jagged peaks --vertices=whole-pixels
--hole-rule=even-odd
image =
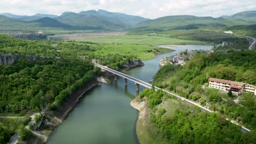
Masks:
[[[143,17],[111,13],[105,10],[88,10],[80,13],[66,12],[56,20],[77,27],[127,28],[147,20]]]

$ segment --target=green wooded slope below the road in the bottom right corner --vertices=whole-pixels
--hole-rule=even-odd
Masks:
[[[162,137],[159,143],[255,143],[255,131],[242,133],[241,127],[232,124],[219,113],[203,112],[195,106],[178,102],[172,114],[161,107],[167,99],[174,99],[163,91],[146,89],[140,94],[143,101],[148,101],[150,125],[158,128],[149,133]],[[163,100],[163,101],[162,101]],[[169,113],[168,113],[169,112]]]

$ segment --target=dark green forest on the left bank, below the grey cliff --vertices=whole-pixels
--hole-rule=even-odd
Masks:
[[[62,104],[89,82],[94,66],[83,59],[28,62],[20,58],[11,66],[0,65],[0,113],[26,113]]]

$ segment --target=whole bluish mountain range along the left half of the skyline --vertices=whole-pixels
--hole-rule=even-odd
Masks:
[[[126,15],[122,13],[112,13],[106,10],[88,10],[81,11],[80,13],[65,12],[60,16],[36,14],[33,16],[26,15],[13,15],[9,13],[3,13],[0,15],[7,17],[0,17],[2,22],[7,21],[10,29],[15,29],[13,26],[17,26],[20,23],[21,28],[25,25],[32,25],[32,29],[40,27],[57,27],[59,28],[71,28],[71,29],[119,29],[130,28],[145,19],[140,16]],[[48,17],[45,19],[45,17]],[[11,20],[15,19],[15,20]],[[21,21],[16,21],[21,20]],[[24,21],[24,22],[22,22]],[[35,23],[38,23],[36,25]],[[4,24],[0,23],[0,27]],[[18,27],[16,27],[18,28]]]

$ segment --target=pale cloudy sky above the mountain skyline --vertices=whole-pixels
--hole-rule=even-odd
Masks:
[[[61,15],[91,9],[139,15],[155,19],[167,15],[232,15],[256,10],[255,0],[1,0],[0,13]]]

